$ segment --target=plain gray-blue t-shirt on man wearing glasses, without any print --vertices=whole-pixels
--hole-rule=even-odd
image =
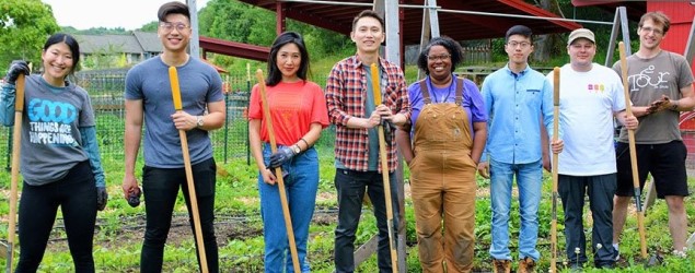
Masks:
[[[221,102],[222,79],[211,66],[189,58],[176,68],[183,110],[193,115],[205,114],[208,103]],[[171,115],[175,112],[169,66],[160,57],[138,63],[126,75],[128,100],[142,99],[144,114],[144,164],[158,168],[184,167],[178,130]],[[186,132],[190,163],[197,164],[212,157],[212,144],[208,131],[193,129]]]

